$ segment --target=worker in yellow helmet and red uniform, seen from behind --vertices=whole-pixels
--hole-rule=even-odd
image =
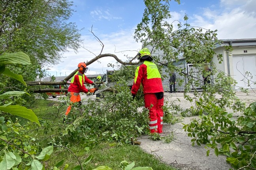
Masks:
[[[151,133],[162,133],[164,89],[161,75],[157,66],[152,63],[148,48],[143,48],[138,53],[141,62],[136,68],[132,96],[135,97],[140,85],[143,87],[145,107],[149,109],[149,129]]]

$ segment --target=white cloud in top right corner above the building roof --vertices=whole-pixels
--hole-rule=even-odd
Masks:
[[[192,16],[192,26],[218,30],[219,39],[256,38],[256,1],[220,0],[220,9],[205,8]]]

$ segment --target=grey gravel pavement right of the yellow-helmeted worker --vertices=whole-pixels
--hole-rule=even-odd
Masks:
[[[192,105],[183,98],[183,93],[170,94],[165,92],[164,96],[165,100],[174,101],[176,104],[180,104],[183,109],[189,108]],[[249,95],[237,92],[237,96],[249,105],[255,101],[256,94],[253,91]],[[228,111],[231,112],[231,110]],[[182,122],[174,125],[164,123],[164,133],[161,136],[166,136],[173,132],[175,140],[171,143],[167,144],[162,140],[153,141],[148,136],[142,136],[138,139],[141,141],[141,148],[145,152],[155,155],[164,163],[181,170],[228,170],[231,168],[230,164],[226,163],[226,157],[222,155],[216,157],[213,150],[210,150],[209,157],[206,157],[206,149],[203,145],[191,145],[190,140],[192,138],[188,137],[187,133],[182,129],[182,123],[188,124],[193,118],[198,118],[198,116],[185,117],[182,119]]]

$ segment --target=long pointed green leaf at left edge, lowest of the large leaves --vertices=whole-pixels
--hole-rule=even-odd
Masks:
[[[8,105],[6,107],[0,106],[0,111],[11,113],[12,115],[21,116],[32,122],[36,122],[39,126],[41,126],[35,113],[31,109],[27,109],[24,106],[20,106],[20,105]]]

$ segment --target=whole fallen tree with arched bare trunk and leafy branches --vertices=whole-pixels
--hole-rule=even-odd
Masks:
[[[179,2],[179,0],[176,1]],[[144,2],[146,8],[141,23],[137,25],[134,39],[142,42],[143,47],[150,48],[155,62],[165,63],[164,69],[167,74],[171,72],[172,69],[175,69],[177,74],[186,75],[187,81],[185,83],[183,80],[180,81],[185,84],[184,98],[190,102],[194,102],[195,107],[190,107],[190,109],[182,111],[181,114],[200,115],[199,120],[194,120],[183,127],[189,132],[189,136],[193,137],[192,143],[198,145],[207,144],[207,147],[215,149],[216,155],[227,155],[227,161],[236,169],[246,167],[248,167],[248,169],[255,169],[256,104],[252,103],[250,107],[245,110],[245,103],[242,103],[239,98],[237,98],[233,90],[236,81],[230,75],[218,72],[216,66],[212,63],[212,59],[215,55],[213,49],[215,45],[219,43],[216,37],[217,30],[211,31],[200,27],[192,27],[187,22],[187,15],[184,16],[184,21],[182,22],[168,22],[171,18],[169,0],[144,0]],[[173,26],[175,22],[177,22],[177,27]],[[177,28],[177,30],[173,30],[173,28]],[[93,32],[92,34],[94,35]],[[114,57],[117,62],[124,66],[138,64],[133,62],[136,57],[130,61],[124,62],[121,61],[117,55],[102,54],[104,44],[98,37],[96,37],[96,39],[100,42],[102,50],[99,55],[95,55],[94,59],[87,62],[87,65],[90,65],[102,57]],[[230,52],[230,49],[230,46],[228,46],[227,53]],[[204,64],[211,63],[211,74],[215,75],[215,83],[212,85],[206,83],[201,87],[202,91],[198,92],[195,86],[201,85],[201,80],[196,76],[186,74],[186,72],[192,72],[193,70],[186,70],[186,68],[179,68],[173,65],[173,62],[179,61],[181,57],[183,57],[187,63],[191,63],[200,73],[204,73],[202,68]],[[221,63],[223,61],[222,55],[218,55],[217,59],[219,63]],[[158,66],[161,69],[161,65]],[[30,86],[67,84],[68,79],[72,78],[75,72],[77,72],[77,69],[60,82],[29,81],[26,82],[26,84]],[[7,74],[8,73],[9,72],[7,72]],[[12,75],[16,76],[14,74]],[[126,76],[126,72],[123,72],[122,76]],[[120,78],[122,76],[120,75]],[[199,76],[202,75],[200,74]],[[7,88],[8,87],[6,87],[6,89]],[[38,91],[31,89],[31,91],[39,93],[49,92],[51,90],[53,89],[43,90],[39,88]],[[62,89],[54,89],[53,91],[55,90],[63,91]],[[188,95],[188,92],[192,92],[193,96]],[[216,94],[219,94],[219,96],[216,97]],[[128,87],[119,87],[118,95],[109,94],[104,98],[105,103],[101,102],[95,105],[95,102],[92,101],[88,102],[86,107],[82,106],[83,113],[81,113],[81,116],[80,114],[75,114],[74,116],[78,116],[78,118],[73,119],[76,120],[76,122],[70,126],[76,125],[77,123],[80,126],[79,128],[83,129],[86,133],[82,135],[84,141],[89,142],[89,144],[94,144],[99,137],[102,137],[101,139],[104,140],[128,142],[130,141],[130,137],[134,135],[134,131],[142,133],[147,128],[146,126],[137,126],[136,121],[140,121],[138,124],[143,125],[147,124],[147,120],[142,120],[141,113],[137,113],[137,108],[143,106],[143,100],[138,95],[136,97],[141,101],[136,103],[137,100],[132,99]],[[8,102],[11,103],[12,101],[11,98],[8,97],[4,102],[8,104]],[[63,105],[66,107],[66,103],[63,103]],[[177,108],[179,108],[178,106],[171,106],[173,109],[168,108],[166,110],[177,111]],[[241,111],[241,113],[244,113],[243,116],[237,118],[238,124],[233,120],[232,114],[227,113],[226,108],[232,108],[233,112]],[[75,111],[77,113],[80,112],[79,109]],[[117,117],[117,114],[113,114],[113,111],[119,114],[120,118]],[[134,114],[131,114],[132,111],[134,111]],[[90,116],[90,114],[87,113],[91,113],[95,116]],[[108,113],[109,118],[104,118],[105,113]],[[147,112],[145,111],[144,113],[145,118],[147,118]],[[83,116],[88,119],[85,119]],[[131,117],[127,118],[128,116]],[[168,117],[166,112],[164,118],[165,117]],[[122,122],[117,124],[116,120],[121,120]],[[109,121],[111,121],[111,125]],[[95,126],[96,123],[98,123],[98,126]],[[112,128],[112,124],[117,128]],[[96,128],[96,130],[92,131],[92,133],[91,131],[87,131],[88,125]],[[128,126],[126,128],[127,132],[122,129],[123,126],[126,125]],[[106,128],[105,133],[102,133],[102,127]],[[134,127],[136,127],[135,130]],[[124,134],[124,132],[126,134]],[[65,131],[65,135],[81,140],[81,133],[73,130],[73,128],[68,127]],[[240,144],[237,146],[237,143]],[[235,150],[235,153],[232,152],[232,149]],[[207,150],[207,155],[209,155],[209,152],[210,151]]]

